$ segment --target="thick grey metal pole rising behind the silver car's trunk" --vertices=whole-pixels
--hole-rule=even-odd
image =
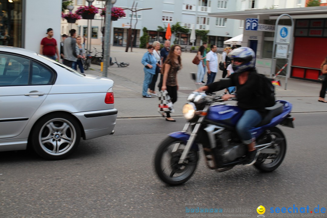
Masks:
[[[103,52],[103,72],[102,75],[107,77],[109,59],[110,59],[110,29],[111,29],[111,1],[106,2],[106,27],[104,31],[104,52]]]

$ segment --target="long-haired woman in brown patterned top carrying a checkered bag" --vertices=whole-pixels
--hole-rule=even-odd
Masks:
[[[161,90],[167,90],[173,104],[177,101],[177,72],[181,69],[181,66],[181,46],[173,45],[161,70],[163,74]],[[170,117],[169,112],[166,112],[166,114],[166,121],[176,122],[176,120]]]

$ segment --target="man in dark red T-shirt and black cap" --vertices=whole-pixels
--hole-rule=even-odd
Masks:
[[[60,56],[57,47],[57,41],[54,38],[52,38],[53,36],[52,28],[49,28],[46,34],[48,34],[48,36],[44,37],[41,41],[40,54],[54,60],[56,60],[56,54],[57,54],[59,60]]]

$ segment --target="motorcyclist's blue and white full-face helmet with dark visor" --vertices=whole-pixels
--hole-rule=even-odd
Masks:
[[[232,65],[234,73],[241,73],[255,68],[255,53],[248,47],[235,48],[228,54],[228,57],[232,60],[239,59],[243,62],[240,65]]]

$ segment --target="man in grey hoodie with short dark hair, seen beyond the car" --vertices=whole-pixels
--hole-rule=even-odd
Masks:
[[[75,69],[75,62],[77,61],[77,54],[76,54],[76,30],[71,29],[69,31],[70,37],[65,39],[63,42],[63,50],[64,53],[64,59],[63,64]]]

